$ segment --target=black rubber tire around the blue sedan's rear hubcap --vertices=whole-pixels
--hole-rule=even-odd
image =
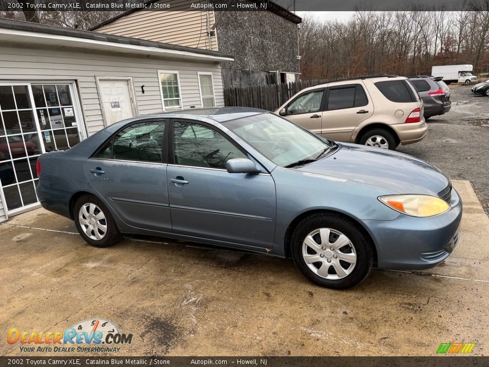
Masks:
[[[91,218],[87,218],[87,220],[90,223],[93,223],[93,228],[88,229],[91,230],[91,234],[96,237],[95,231],[98,231],[99,237],[101,237],[101,232],[102,229],[99,229],[99,225],[102,228],[102,226],[106,226],[106,231],[103,234],[103,237],[101,237],[99,240],[90,238],[87,233],[85,232],[84,228],[82,228],[83,225],[80,219],[80,209],[82,206],[90,207],[90,204],[95,204],[95,206],[98,208],[100,212],[102,212],[104,219],[103,220],[94,220],[94,217],[91,216]],[[96,216],[100,212],[97,209],[95,209],[93,215]],[[87,212],[89,212],[87,210]],[[90,245],[95,246],[95,247],[108,247],[116,244],[119,242],[122,238],[121,233],[119,232],[119,229],[117,228],[116,223],[114,222],[114,219],[112,218],[111,212],[108,211],[107,207],[103,204],[102,201],[100,201],[98,198],[92,195],[83,195],[76,200],[75,205],[73,206],[73,218],[75,221],[75,226],[80,235],[83,237],[85,241],[87,241]],[[85,218],[85,217],[84,217]],[[93,222],[92,222],[93,221]],[[95,227],[96,226],[96,227]],[[88,227],[88,226],[87,226]]]

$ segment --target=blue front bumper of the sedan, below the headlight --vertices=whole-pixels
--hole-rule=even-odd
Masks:
[[[377,250],[378,269],[429,269],[453,251],[460,237],[462,201],[455,189],[449,211],[429,218],[400,215],[365,221]]]

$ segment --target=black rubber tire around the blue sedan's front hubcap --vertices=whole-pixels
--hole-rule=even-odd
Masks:
[[[334,279],[334,274],[330,274],[336,274],[335,267],[338,266],[339,261],[341,261],[331,258],[332,256],[336,256],[335,253],[338,254],[339,250],[335,249],[333,251],[328,251],[328,247],[326,246],[327,250],[325,250],[325,252],[323,253],[324,256],[321,257],[322,263],[313,263],[308,265],[306,263],[306,260],[304,259],[304,251],[306,251],[306,254],[311,254],[313,256],[317,255],[317,252],[316,254],[314,254],[314,251],[312,251],[312,253],[309,252],[310,248],[307,248],[307,246],[304,245],[304,241],[310,233],[313,233],[319,228],[331,229],[330,237],[328,239],[329,245],[327,246],[335,246],[335,242],[339,239],[339,237],[335,239],[334,236],[338,236],[336,232],[339,232],[341,234],[344,234],[347,237],[347,240],[350,241],[349,243],[353,247],[353,249],[351,249],[351,253],[356,253],[355,266],[352,268],[352,270],[347,269],[346,271],[350,271],[350,273],[340,279]],[[319,234],[315,235],[315,237],[313,238],[315,239],[316,244],[320,247],[323,244],[322,241],[320,241],[321,243],[318,244],[318,235]],[[351,246],[347,245],[346,247],[343,246],[340,249],[343,249],[342,251],[346,251],[347,249],[349,249],[349,247]],[[324,248],[324,246],[322,248]],[[322,251],[322,248],[320,248],[319,251]],[[330,247],[330,249],[331,248],[333,247]],[[358,224],[347,218],[344,218],[343,216],[336,214],[314,214],[302,220],[297,225],[292,234],[291,254],[295,266],[301,271],[301,273],[304,274],[306,278],[317,285],[338,290],[347,289],[360,284],[370,273],[374,258],[373,244],[371,240],[359,229]],[[324,262],[325,258],[326,260],[330,260],[331,258],[331,260],[338,261],[338,263],[335,265],[332,263]],[[348,264],[345,261],[343,261],[343,263]],[[318,270],[319,264],[319,269],[321,269],[323,266],[327,267],[324,268],[324,271],[327,271],[327,276],[333,279],[327,279],[323,276],[320,276],[316,273],[315,270],[313,270]],[[343,269],[345,269],[345,265],[342,265],[342,267]]]

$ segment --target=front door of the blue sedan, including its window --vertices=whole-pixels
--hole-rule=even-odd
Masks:
[[[176,119],[170,134],[173,232],[235,247],[271,248],[276,219],[271,175],[227,172],[229,159],[247,153],[213,126]]]

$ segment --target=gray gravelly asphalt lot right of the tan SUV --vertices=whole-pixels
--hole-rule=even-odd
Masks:
[[[489,216],[489,98],[470,88],[450,85],[451,111],[428,120],[422,141],[397,150],[438,167],[451,179],[469,180]]]

